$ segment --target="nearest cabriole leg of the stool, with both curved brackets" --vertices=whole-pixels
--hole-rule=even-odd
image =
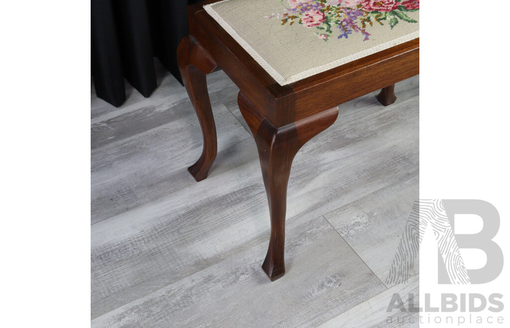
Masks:
[[[271,236],[262,269],[269,279],[276,280],[285,274],[285,215],[287,184],[292,161],[308,140],[335,122],[338,116],[338,107],[284,127],[275,128],[242,92],[239,92],[237,100],[239,109],[257,142],[269,203]]]

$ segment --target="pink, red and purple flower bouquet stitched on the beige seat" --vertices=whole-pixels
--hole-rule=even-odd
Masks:
[[[279,0],[283,2],[283,0]],[[295,22],[327,41],[334,34],[347,39],[353,33],[361,33],[364,41],[369,39],[368,26],[388,24],[391,28],[399,22],[417,23],[407,12],[420,10],[420,0],[286,0],[290,8],[284,14],[273,14],[282,25]]]

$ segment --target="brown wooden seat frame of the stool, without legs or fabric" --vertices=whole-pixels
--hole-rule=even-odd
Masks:
[[[189,7],[191,35],[276,128],[419,74],[419,39],[415,39],[279,85],[201,8],[209,3]]]

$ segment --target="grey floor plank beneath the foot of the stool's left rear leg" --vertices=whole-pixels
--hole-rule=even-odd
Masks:
[[[177,190],[208,184],[197,184],[187,171],[200,157],[202,135],[192,108],[185,111],[186,115],[171,123],[92,152],[91,224],[157,201]],[[218,156],[210,176],[242,166],[256,157],[239,151],[251,137],[223,104],[214,107],[214,115]]]

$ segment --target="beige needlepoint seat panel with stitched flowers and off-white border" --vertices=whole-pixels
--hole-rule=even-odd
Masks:
[[[281,85],[419,37],[419,0],[224,0],[204,8]]]

